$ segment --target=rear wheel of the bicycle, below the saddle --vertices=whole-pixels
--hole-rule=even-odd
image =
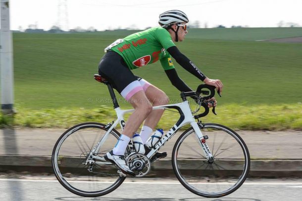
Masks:
[[[106,133],[105,124],[85,122],[66,130],[52,151],[52,167],[57,180],[68,191],[84,197],[98,197],[119,187],[126,177],[120,177],[111,163],[95,160],[85,164],[91,150]],[[102,157],[116,144],[120,134],[113,129],[95,156]],[[89,171],[89,167],[92,167]]]

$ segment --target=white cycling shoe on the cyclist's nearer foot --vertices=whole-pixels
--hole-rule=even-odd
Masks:
[[[132,176],[136,175],[134,171],[132,171],[126,164],[124,156],[114,155],[113,151],[111,150],[104,155],[104,159],[117,166],[123,173],[130,174]]]

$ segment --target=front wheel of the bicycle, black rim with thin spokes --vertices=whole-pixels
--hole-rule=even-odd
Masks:
[[[236,191],[246,180],[250,154],[243,139],[230,128],[216,123],[200,126],[214,161],[207,160],[194,129],[178,138],[172,165],[177,179],[192,193],[218,198]]]

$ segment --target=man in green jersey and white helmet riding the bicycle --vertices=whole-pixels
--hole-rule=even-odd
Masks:
[[[134,107],[134,112],[125,124],[122,135],[115,147],[104,155],[124,173],[135,175],[127,166],[124,154],[131,138],[143,121],[141,130],[142,143],[145,144],[154,127],[160,120],[163,110],[152,111],[152,106],[164,105],[169,102],[167,95],[148,81],[135,76],[131,70],[160,61],[171,83],[180,91],[193,91],[181,80],[172,63],[173,57],[188,72],[208,85],[215,86],[221,92],[223,84],[220,80],[207,78],[197,66],[183,55],[174,42],[183,41],[189,19],[180,10],[169,10],[159,15],[160,27],[150,28],[119,39],[105,48],[106,54],[99,64],[99,74]],[[208,104],[209,107],[216,106]],[[145,147],[148,153],[147,147]],[[163,158],[166,153],[156,153],[154,157]]]

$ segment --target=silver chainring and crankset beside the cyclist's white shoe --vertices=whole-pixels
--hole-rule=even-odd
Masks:
[[[135,177],[143,177],[150,172],[151,162],[143,154],[132,154],[126,158],[128,167],[136,173]]]

